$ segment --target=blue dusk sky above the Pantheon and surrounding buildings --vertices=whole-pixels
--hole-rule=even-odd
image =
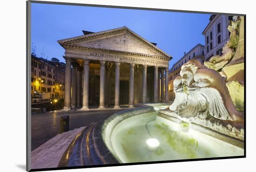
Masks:
[[[64,49],[57,40],[83,35],[82,30],[100,32],[127,26],[172,56],[171,68],[184,52],[198,43],[204,45],[202,31],[210,14],[32,3],[31,16],[32,44],[37,57],[55,57],[65,62]]]

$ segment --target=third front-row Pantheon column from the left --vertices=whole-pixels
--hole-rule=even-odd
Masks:
[[[105,108],[105,61],[101,61],[101,78],[100,78],[100,109]]]

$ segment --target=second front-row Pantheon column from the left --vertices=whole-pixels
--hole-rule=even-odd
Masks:
[[[83,110],[89,109],[89,60],[84,60],[82,109]]]

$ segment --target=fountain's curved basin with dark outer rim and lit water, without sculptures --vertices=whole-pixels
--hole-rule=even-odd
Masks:
[[[155,105],[156,110],[167,105]],[[151,106],[101,119],[81,132],[59,167],[243,156],[243,146],[212,137],[189,123],[164,118]]]

